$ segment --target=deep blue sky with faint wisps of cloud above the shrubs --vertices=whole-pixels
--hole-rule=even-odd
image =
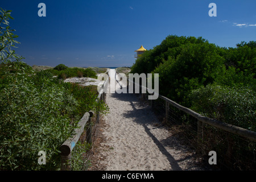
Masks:
[[[46,17],[38,4],[46,4]],[[217,17],[210,17],[209,3]],[[131,66],[134,51],[159,45],[168,35],[202,36],[221,47],[256,40],[255,0],[12,0],[16,53],[29,65]]]

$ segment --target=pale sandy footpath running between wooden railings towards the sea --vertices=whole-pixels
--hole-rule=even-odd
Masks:
[[[110,70],[113,91],[114,69]],[[104,137],[109,150],[102,151],[106,170],[200,170],[169,130],[142,105],[135,94],[106,94],[110,113],[104,116]]]

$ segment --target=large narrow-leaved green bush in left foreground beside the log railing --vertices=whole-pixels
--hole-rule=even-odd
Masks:
[[[58,148],[79,121],[75,115],[71,121],[77,101],[57,80],[43,74],[34,76],[23,64],[1,68],[0,168],[59,167]],[[46,166],[38,164],[41,150],[47,153]]]

